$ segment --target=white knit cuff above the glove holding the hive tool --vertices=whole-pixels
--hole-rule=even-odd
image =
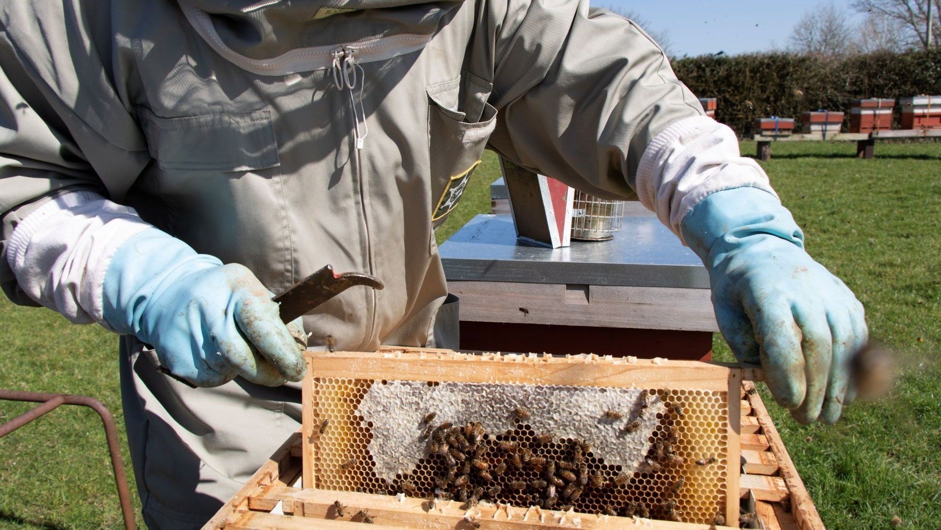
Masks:
[[[93,191],[46,201],[10,235],[7,261],[24,293],[78,324],[104,323],[104,273],[115,251],[151,225]]]

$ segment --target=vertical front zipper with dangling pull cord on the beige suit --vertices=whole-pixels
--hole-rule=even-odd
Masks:
[[[353,115],[353,182],[359,188],[359,213],[363,222],[363,244],[365,246],[366,262],[369,265],[369,273],[375,274],[375,264],[373,262],[373,244],[369,230],[369,209],[366,207],[366,178],[365,171],[362,168],[362,159],[360,152],[366,145],[366,137],[369,135],[369,126],[366,124],[366,111],[362,104],[362,90],[365,83],[365,71],[357,63],[359,48],[354,46],[342,46],[333,52],[333,64],[331,71],[333,74],[334,85],[343,91],[349,99],[350,110]],[[360,343],[363,347],[368,344],[375,331],[375,312],[376,299],[375,289],[366,289],[367,305],[370,307],[369,329],[363,336]]]

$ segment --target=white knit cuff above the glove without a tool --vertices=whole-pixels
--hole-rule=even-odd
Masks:
[[[641,203],[680,240],[683,217],[716,191],[752,186],[777,197],[764,169],[742,157],[735,133],[706,116],[679,120],[654,137],[635,183]]]

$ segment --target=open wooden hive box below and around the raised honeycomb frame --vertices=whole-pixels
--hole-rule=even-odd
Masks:
[[[745,382],[736,392],[741,398],[741,448],[744,473],[737,490],[745,499],[756,499],[758,517],[768,530],[823,530],[817,508],[807,495],[800,476],[794,469],[788,452],[781,442],[774,423],[765,410],[751,383]],[[433,510],[427,500],[405,498],[401,501],[385,495],[371,495],[345,491],[310,490],[299,488],[301,475],[302,435],[292,435],[278,451],[248,480],[231,500],[219,509],[203,530],[286,530],[355,529],[363,530],[422,527],[428,530],[467,529],[471,525],[464,519],[466,510],[457,503],[446,506],[439,503]],[[332,507],[335,501],[346,506],[341,520]],[[368,509],[375,523],[364,526],[351,518],[360,509]],[[486,530],[546,530],[547,528],[575,528],[572,517],[559,519],[558,512],[540,521],[541,514],[506,506],[480,506],[478,517]],[[607,530],[632,528],[634,520],[582,515],[580,528]],[[726,524],[736,525],[738,514]],[[643,527],[652,530],[707,530],[708,524],[643,520]],[[729,529],[733,526],[716,526]]]

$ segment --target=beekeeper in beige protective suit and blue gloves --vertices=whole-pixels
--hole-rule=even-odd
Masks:
[[[433,230],[485,148],[636,192],[703,259],[726,340],[799,421],[834,422],[853,397],[861,304],[657,44],[586,0],[0,13],[3,287],[121,334],[153,528],[199,527],[295,431],[304,331],[346,350],[457,346]],[[282,325],[271,294],[326,264],[386,289]]]

